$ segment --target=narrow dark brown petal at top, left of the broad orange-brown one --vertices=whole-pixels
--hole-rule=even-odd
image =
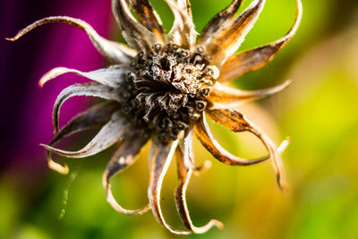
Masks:
[[[217,30],[226,24],[234,14],[239,9],[240,5],[243,3],[243,0],[233,0],[231,4],[229,4],[226,9],[217,13],[205,26],[204,30],[201,31],[200,37],[197,40],[197,44],[201,45],[207,41],[209,37],[217,32]]]

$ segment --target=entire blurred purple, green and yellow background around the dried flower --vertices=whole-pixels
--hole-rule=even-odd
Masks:
[[[192,0],[197,30],[229,3]],[[152,4],[169,30],[173,15],[163,1]],[[248,4],[244,1],[242,9]],[[269,162],[226,166],[194,141],[195,160],[200,164],[209,159],[212,167],[193,176],[189,185],[193,222],[200,226],[216,218],[225,227],[188,238],[358,238],[358,2],[303,0],[303,8],[296,36],[275,59],[233,82],[253,90],[294,80],[276,96],[240,108],[277,144],[291,138],[283,156],[290,192],[279,191]],[[241,50],[283,37],[294,14],[294,0],[268,0]],[[38,79],[55,66],[90,71],[108,64],[81,30],[58,23],[17,42],[4,40],[50,15],[81,18],[100,35],[122,40],[109,0],[0,3],[0,238],[183,237],[167,232],[150,212],[121,215],[107,204],[101,176],[111,149],[90,158],[66,159],[70,175],[47,169],[45,150],[38,144],[53,136],[55,98],[64,87],[84,80],[68,74],[39,89]],[[69,100],[62,125],[93,100]],[[265,153],[251,135],[211,126],[218,141],[235,155]],[[88,136],[72,138],[63,147],[79,149]],[[137,163],[113,180],[115,197],[125,208],[148,201],[148,151],[147,145]],[[181,227],[173,196],[175,170],[173,164],[166,175],[162,204],[167,221]]]

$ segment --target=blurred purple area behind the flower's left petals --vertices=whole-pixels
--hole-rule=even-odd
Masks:
[[[104,58],[82,30],[61,23],[41,26],[16,42],[4,39],[13,37],[33,21],[55,15],[87,21],[105,38],[109,35],[110,21],[113,21],[110,1],[89,0],[86,4],[80,0],[1,2],[0,166],[1,173],[17,172],[23,175],[22,179],[36,179],[36,175],[46,172],[45,150],[38,144],[48,143],[53,137],[51,115],[55,98],[66,86],[85,81],[65,74],[40,89],[39,78],[56,66],[91,71],[104,64]],[[60,118],[62,125],[83,109],[88,100],[76,98],[65,104]]]

